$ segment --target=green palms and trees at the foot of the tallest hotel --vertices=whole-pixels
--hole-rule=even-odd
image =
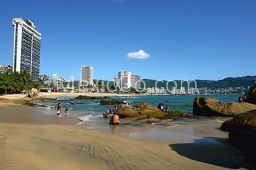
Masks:
[[[42,81],[33,81],[30,74],[25,71],[18,73],[9,69],[0,73],[0,93],[22,93],[23,90],[38,89],[40,86]]]

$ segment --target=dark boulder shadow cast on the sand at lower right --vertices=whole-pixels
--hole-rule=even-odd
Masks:
[[[169,146],[181,156],[206,164],[223,168],[255,168],[246,162],[244,152],[228,144],[227,139],[206,136],[194,140],[193,143],[169,144]]]

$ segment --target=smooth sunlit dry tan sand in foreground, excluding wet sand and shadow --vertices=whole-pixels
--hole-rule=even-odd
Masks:
[[[168,144],[64,125],[0,124],[2,169],[220,169]]]

